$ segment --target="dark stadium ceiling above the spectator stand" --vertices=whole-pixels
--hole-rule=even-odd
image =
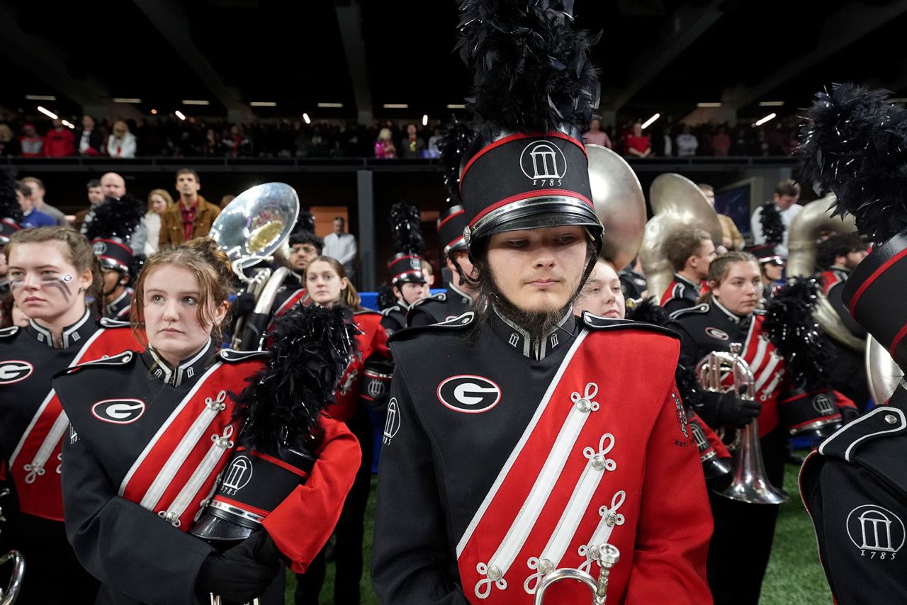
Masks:
[[[469,93],[453,0],[101,0],[74,18],[54,12],[0,0],[0,107],[111,115],[125,106],[116,98],[141,99],[132,110],[143,113],[384,119],[443,117]],[[907,96],[907,0],[575,0],[575,14],[603,32],[602,108],[622,118],[679,119],[701,102],[784,117],[843,81]]]

